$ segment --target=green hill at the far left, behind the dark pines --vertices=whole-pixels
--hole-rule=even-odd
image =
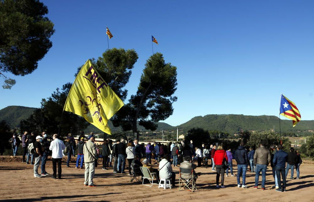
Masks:
[[[20,121],[30,117],[35,109],[27,106],[7,106],[0,110],[0,121],[5,120],[10,128],[19,128]]]

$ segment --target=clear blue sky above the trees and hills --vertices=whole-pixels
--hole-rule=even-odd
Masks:
[[[173,126],[207,114],[279,114],[280,93],[314,119],[314,1],[43,1],[54,23],[53,43],[38,68],[0,89],[0,109],[39,107],[42,98],[74,81],[78,66],[109,46],[135,49],[126,85],[136,93],[151,35],[177,67]],[[126,101],[127,102],[127,101]],[[285,119],[281,116],[281,118]]]

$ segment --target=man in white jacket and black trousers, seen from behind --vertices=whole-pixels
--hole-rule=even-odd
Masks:
[[[58,179],[61,179],[61,161],[62,161],[62,150],[65,150],[65,145],[62,140],[58,139],[59,136],[57,134],[54,134],[52,136],[53,141],[51,141],[49,150],[52,150],[52,170],[53,179],[57,179],[57,164],[58,164]]]

